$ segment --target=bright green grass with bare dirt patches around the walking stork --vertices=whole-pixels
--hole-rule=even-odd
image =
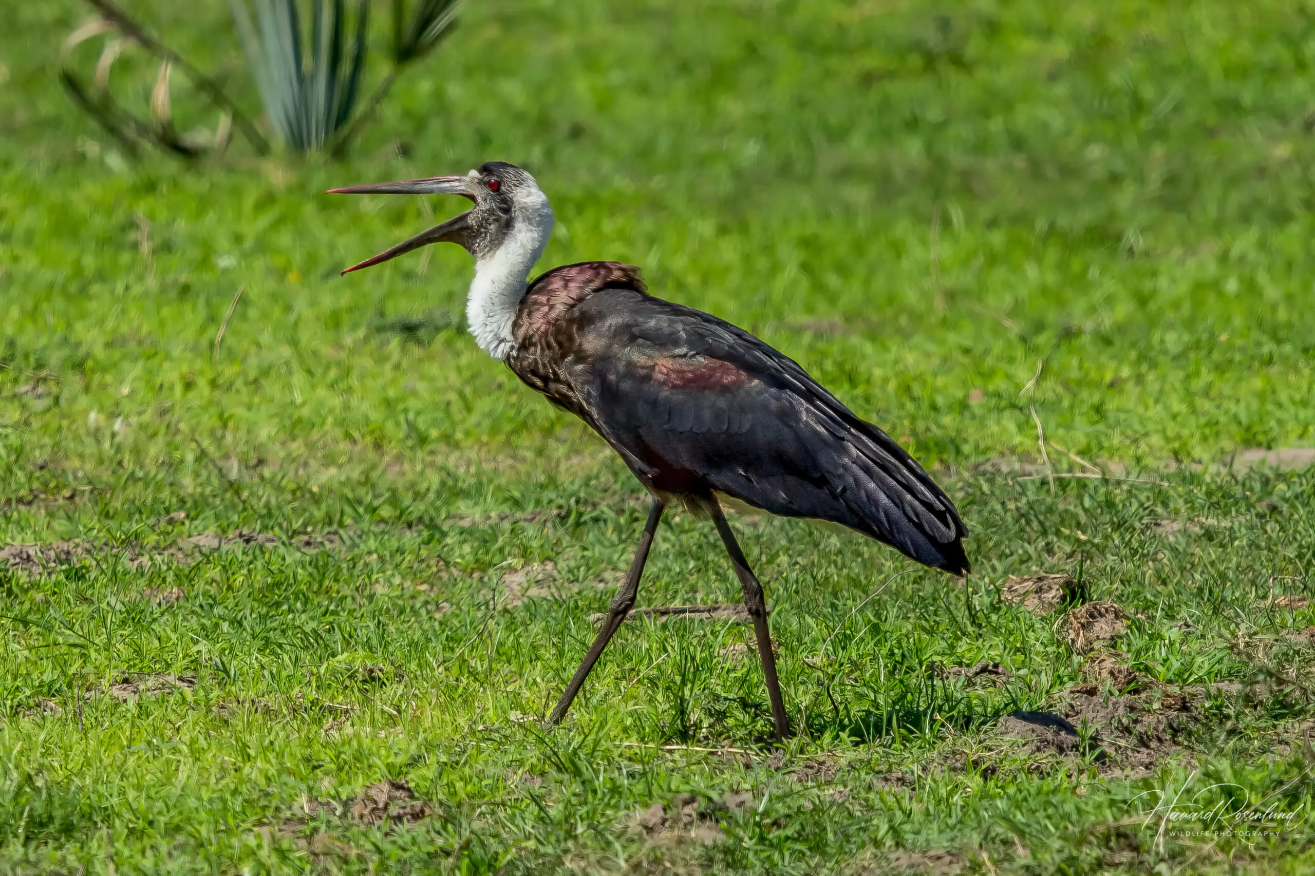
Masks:
[[[133,8],[245,82],[226,4]],[[84,548],[36,576],[0,560],[0,869],[1315,863],[1315,612],[1266,605],[1315,597],[1315,470],[1216,464],[1315,446],[1308,3],[471,4],[348,162],[195,166],[130,163],[62,93],[84,12],[0,8],[0,550]],[[114,68],[143,101],[153,76]],[[552,199],[544,264],[633,262],[753,329],[960,504],[965,588],[856,535],[732,521],[773,609],[781,750],[731,621],[627,622],[567,725],[537,723],[629,563],[639,488],[463,334],[464,253],[337,278],[427,224],[417,199],[318,193],[488,159]],[[999,474],[1040,471],[1030,401],[1055,446],[1140,480]],[[238,530],[277,543],[178,547]],[[1130,614],[1114,645],[1141,688],[1110,702],[1149,709],[1173,756],[1136,762],[1118,727],[1109,758],[1001,735],[1078,696],[1063,613],[999,597],[1043,571]],[[640,605],[738,591],[710,525],[668,517]],[[1009,679],[947,672],[981,660]],[[114,696],[124,676],[147,689]],[[1237,687],[1165,705],[1214,683]],[[431,814],[354,814],[383,780]],[[1184,788],[1299,814],[1157,837],[1139,813]],[[634,826],[677,794],[725,839]]]

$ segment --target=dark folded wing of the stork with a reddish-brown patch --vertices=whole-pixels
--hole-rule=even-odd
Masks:
[[[659,488],[706,483],[967,571],[967,529],[945,493],[794,360],[723,320],[639,291],[600,292],[571,321],[572,374],[594,426],[633,467],[671,481]]]

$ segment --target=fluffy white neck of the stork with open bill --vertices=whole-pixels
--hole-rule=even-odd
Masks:
[[[475,343],[498,360],[512,354],[512,324],[529,288],[530,268],[552,237],[552,208],[538,187],[517,192],[514,210],[501,246],[475,260],[475,279],[466,297],[466,322]]]

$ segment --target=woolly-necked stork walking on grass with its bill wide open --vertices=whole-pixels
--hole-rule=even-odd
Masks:
[[[968,534],[949,497],[899,445],[860,420],[793,359],[723,320],[648,295],[639,268],[583,262],[529,281],[552,208],[526,171],[488,162],[464,176],[335,188],[348,195],[460,195],[473,209],[355,264],[447,241],[475,256],[467,321],[480,349],[576,414],[652,496],[608,620],[550,716],[559,722],[635,604],[658,522],[672,500],[706,512],[753,621],[777,737],[788,733],[763,588],[718,495],[785,517],[855,529],[953,575]]]

